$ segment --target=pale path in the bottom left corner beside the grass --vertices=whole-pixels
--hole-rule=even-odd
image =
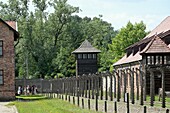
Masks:
[[[9,102],[0,102],[0,113],[18,113],[15,106],[6,106]]]

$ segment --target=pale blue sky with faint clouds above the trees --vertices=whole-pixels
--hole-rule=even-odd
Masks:
[[[170,15],[170,0],[68,0],[82,11],[81,17],[99,17],[112,24],[115,29],[132,23],[143,21],[147,30],[155,28]]]

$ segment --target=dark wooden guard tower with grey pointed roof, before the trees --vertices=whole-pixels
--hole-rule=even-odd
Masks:
[[[79,48],[72,53],[76,56],[76,76],[97,72],[97,54],[101,51],[94,48],[85,40]]]

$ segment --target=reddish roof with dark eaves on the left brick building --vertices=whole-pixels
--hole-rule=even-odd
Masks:
[[[5,25],[7,25],[9,27],[9,29],[11,29],[14,32],[14,40],[16,41],[17,38],[19,37],[19,33],[15,30],[16,29],[16,22],[5,22],[4,20],[2,20],[0,18],[0,21],[3,22]]]

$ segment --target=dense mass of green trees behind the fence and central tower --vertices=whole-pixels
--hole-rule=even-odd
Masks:
[[[99,71],[109,70],[130,44],[146,35],[145,25],[127,24],[118,31],[102,16],[79,17],[79,7],[67,0],[8,0],[0,2],[0,17],[18,22],[20,38],[15,44],[16,76],[19,78],[55,78],[75,75],[75,57],[71,54],[88,39],[101,50]],[[48,8],[52,11],[48,12]],[[108,46],[109,45],[109,46]]]

